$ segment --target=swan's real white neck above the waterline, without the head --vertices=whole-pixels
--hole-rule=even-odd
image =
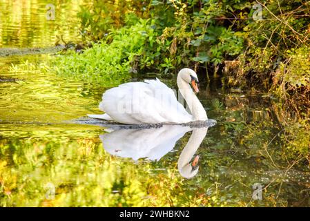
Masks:
[[[181,95],[184,97],[188,108],[191,110],[193,120],[208,119],[204,107],[191,89],[191,86],[189,86],[189,84],[186,83],[186,81],[184,81],[184,79],[182,79],[180,75],[177,76],[177,86],[180,90]]]

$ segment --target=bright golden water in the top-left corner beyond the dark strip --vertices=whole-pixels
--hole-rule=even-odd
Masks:
[[[55,20],[46,19],[46,5],[55,5]],[[50,0],[1,0],[0,46],[32,48],[53,46],[57,35],[65,41],[79,39],[77,12],[84,3]]]

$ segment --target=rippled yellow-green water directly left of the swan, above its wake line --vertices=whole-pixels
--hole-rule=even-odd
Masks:
[[[35,59],[44,60],[46,56],[39,55]],[[1,76],[14,77],[15,80],[1,82],[2,121],[57,123],[82,117],[97,111],[97,101],[89,97],[104,90],[95,90],[96,86],[83,81],[63,79],[55,77],[54,73],[40,73],[38,70],[9,72]]]

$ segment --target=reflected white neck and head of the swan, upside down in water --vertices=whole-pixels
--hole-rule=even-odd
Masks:
[[[206,137],[206,131],[208,131],[208,128],[195,128],[186,146],[184,147],[179,160],[177,161],[177,169],[179,169],[183,177],[191,178],[197,174],[198,169],[193,171],[190,162],[193,155],[195,155],[197,148],[202,143],[202,140]]]

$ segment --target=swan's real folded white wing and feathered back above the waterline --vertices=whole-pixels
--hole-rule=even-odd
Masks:
[[[102,96],[99,108],[124,124],[184,123],[192,119],[173,90],[158,79],[111,88]]]

